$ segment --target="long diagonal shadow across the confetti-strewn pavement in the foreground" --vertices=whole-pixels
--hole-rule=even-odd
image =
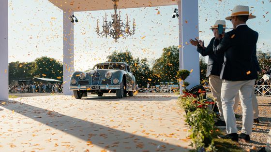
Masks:
[[[102,97],[102,99],[108,99],[111,97]],[[142,98],[134,97],[135,100],[142,100]],[[91,98],[93,99],[93,98]],[[125,98],[124,98],[125,99]],[[144,98],[144,100],[146,100]],[[150,101],[152,98],[150,98]],[[25,104],[15,100],[5,101],[5,105],[0,105],[10,111],[15,110],[15,112],[22,114],[30,119],[37,122],[46,124],[50,127],[56,128],[62,132],[70,134],[76,138],[83,139],[85,141],[91,140],[92,144],[99,147],[103,147],[109,151],[117,152],[155,152],[157,146],[160,145],[162,148],[160,151],[165,152],[185,152],[188,151],[187,148],[179,147],[177,145],[170,145],[165,142],[161,142],[155,139],[138,136],[125,131],[120,131],[114,128],[110,128],[106,125],[95,124],[82,119],[77,119],[67,115],[62,115],[58,112],[48,111],[39,107],[35,107],[29,104]],[[33,113],[34,112],[34,113]],[[37,113],[46,113],[37,117]],[[57,119],[56,119],[57,118]],[[76,122],[77,124],[67,123]],[[140,148],[140,145],[148,145],[148,149]],[[115,146],[114,146],[115,145]],[[164,146],[163,146],[164,145]]]

